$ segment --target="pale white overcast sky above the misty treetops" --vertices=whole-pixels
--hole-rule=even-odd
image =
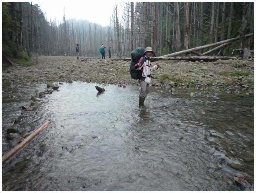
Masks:
[[[75,18],[83,19],[92,23],[98,23],[102,26],[110,25],[110,17],[113,14],[114,1],[32,1],[32,4],[38,4],[41,10],[46,12],[47,21],[55,19],[57,25],[63,21],[63,13],[65,7],[66,20]],[[119,4],[119,2],[117,2]],[[121,6],[118,6],[120,10]],[[120,15],[121,16],[121,15]],[[58,22],[59,21],[59,22]]]

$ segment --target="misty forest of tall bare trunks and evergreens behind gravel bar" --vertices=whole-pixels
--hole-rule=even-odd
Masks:
[[[118,9],[123,9],[122,15]],[[65,10],[63,13],[63,20],[57,23],[56,19],[47,21],[32,2],[2,2],[2,57],[74,56],[76,43],[86,57],[97,57],[102,43],[118,57],[129,56],[139,46],[151,46],[155,56],[161,56],[235,37],[239,41],[208,55],[254,50],[254,36],[246,36],[254,33],[254,2],[122,2],[114,5],[107,27],[66,20]]]

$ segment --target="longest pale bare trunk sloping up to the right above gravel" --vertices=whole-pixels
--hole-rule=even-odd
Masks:
[[[253,33],[247,34],[247,35],[245,35],[245,38],[251,37],[253,35],[254,35]],[[178,55],[181,55],[181,54],[186,54],[186,53],[189,53],[189,52],[193,52],[193,51],[196,51],[196,50],[201,50],[201,49],[204,49],[204,48],[214,47],[214,46],[221,45],[221,44],[224,44],[224,43],[234,42],[234,41],[239,40],[239,38],[240,37],[226,39],[224,41],[215,42],[215,43],[212,43],[212,44],[207,44],[207,45],[203,45],[203,46],[199,46],[199,47],[191,48],[191,49],[187,49],[187,50],[182,50],[180,52],[175,52],[175,53],[172,53],[172,54],[162,55],[161,57],[174,57],[174,56],[178,56]]]

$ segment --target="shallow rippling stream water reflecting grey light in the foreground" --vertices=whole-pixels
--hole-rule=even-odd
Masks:
[[[109,85],[97,95],[95,85],[65,84],[47,96],[37,116],[52,123],[3,165],[3,191],[241,190],[235,176],[254,183],[253,98],[151,87],[139,110],[139,87]]]

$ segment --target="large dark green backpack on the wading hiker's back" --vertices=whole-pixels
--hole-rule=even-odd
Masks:
[[[144,56],[144,52],[145,49],[142,47],[138,47],[131,52],[130,75],[132,79],[139,79],[139,70],[135,69],[135,64]]]

